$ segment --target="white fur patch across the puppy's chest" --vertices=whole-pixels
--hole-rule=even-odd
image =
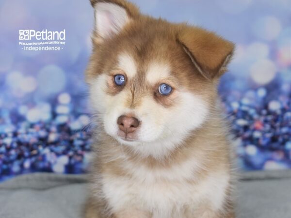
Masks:
[[[226,172],[210,173],[202,181],[189,182],[198,168],[193,160],[167,170],[127,164],[130,179],[105,174],[101,181],[103,194],[115,212],[136,208],[152,212],[153,218],[184,218],[187,206],[195,209],[207,201],[216,210],[224,203],[229,184]]]

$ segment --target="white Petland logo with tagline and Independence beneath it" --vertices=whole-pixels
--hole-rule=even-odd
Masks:
[[[31,42],[23,42],[24,40]],[[19,45],[24,46],[21,49],[25,51],[59,51],[63,49],[60,45],[65,45],[65,29],[63,31],[19,30]]]

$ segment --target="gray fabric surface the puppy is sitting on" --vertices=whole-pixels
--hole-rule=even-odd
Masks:
[[[242,173],[238,218],[291,218],[291,171]],[[84,175],[35,173],[0,184],[0,218],[80,218]]]

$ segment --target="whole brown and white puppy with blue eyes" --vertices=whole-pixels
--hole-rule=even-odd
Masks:
[[[232,153],[217,106],[234,45],[125,0],[91,4],[86,81],[98,130],[84,218],[234,218]]]

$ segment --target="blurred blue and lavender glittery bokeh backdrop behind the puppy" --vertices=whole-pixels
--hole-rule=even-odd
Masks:
[[[219,87],[245,170],[291,168],[291,0],[132,0],[141,11],[216,31],[236,44]],[[0,1],[0,180],[82,173],[90,160],[83,81],[89,0]],[[61,51],[24,51],[18,31],[66,31]]]

